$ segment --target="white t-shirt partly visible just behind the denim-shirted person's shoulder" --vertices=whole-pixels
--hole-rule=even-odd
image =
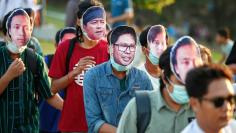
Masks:
[[[159,78],[155,78],[155,77],[153,77],[152,75],[150,75],[150,74],[147,72],[147,70],[146,70],[146,68],[145,68],[144,65],[139,66],[138,69],[144,71],[144,72],[148,75],[149,79],[150,79],[151,82],[152,82],[153,90],[158,90],[158,89],[160,88],[160,81],[159,81],[160,79],[159,79]]]

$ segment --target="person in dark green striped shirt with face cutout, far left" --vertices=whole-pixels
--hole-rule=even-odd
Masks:
[[[50,91],[43,58],[30,53],[30,18],[22,8],[14,9],[6,21],[8,41],[0,48],[0,132],[39,132],[38,98],[62,110],[63,100]],[[28,56],[37,63],[37,79]],[[37,80],[37,84],[35,82]]]

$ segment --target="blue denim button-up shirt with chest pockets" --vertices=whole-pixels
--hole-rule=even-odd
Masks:
[[[145,72],[131,68],[126,74],[126,90],[112,73],[110,61],[91,68],[84,77],[84,103],[89,133],[97,133],[104,123],[118,126],[124,108],[135,91],[152,90]]]

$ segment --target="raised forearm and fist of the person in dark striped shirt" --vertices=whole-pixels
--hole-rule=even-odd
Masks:
[[[6,73],[0,78],[0,95],[7,88],[8,84],[15,78],[20,76],[25,71],[25,65],[23,61],[19,58],[16,58]]]

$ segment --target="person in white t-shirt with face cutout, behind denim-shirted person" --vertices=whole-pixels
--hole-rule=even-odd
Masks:
[[[146,28],[139,36],[142,51],[146,56],[146,62],[139,69],[146,72],[154,90],[159,89],[159,77],[161,70],[158,67],[159,58],[167,48],[168,36],[165,27],[154,25]]]

